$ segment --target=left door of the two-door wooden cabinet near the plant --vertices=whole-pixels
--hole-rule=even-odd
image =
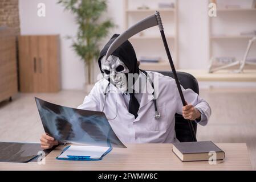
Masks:
[[[21,92],[34,92],[37,52],[34,39],[32,36],[19,36],[19,82]]]

